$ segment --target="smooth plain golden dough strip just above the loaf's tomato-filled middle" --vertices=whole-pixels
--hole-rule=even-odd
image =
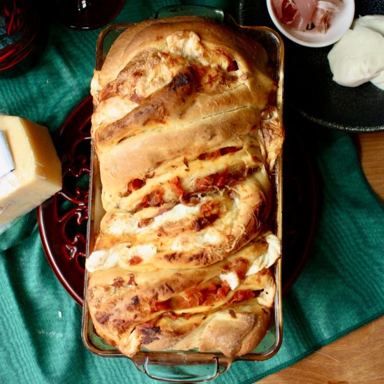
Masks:
[[[115,195],[125,191],[132,179],[146,177],[157,163],[176,156],[207,152],[210,147],[231,138],[234,131],[241,135],[250,131],[257,122],[254,110],[244,107],[236,112],[206,117],[185,125],[157,126],[140,136],[119,142],[108,152],[98,155],[101,177],[106,186],[103,193],[105,206],[110,200],[116,200]]]

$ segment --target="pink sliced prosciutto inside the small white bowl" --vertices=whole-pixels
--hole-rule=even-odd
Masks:
[[[272,0],[279,20],[287,27],[305,31],[316,28],[325,34],[330,19],[337,12],[341,0]]]

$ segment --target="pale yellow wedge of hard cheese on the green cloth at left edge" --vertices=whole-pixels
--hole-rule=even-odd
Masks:
[[[0,223],[7,223],[61,190],[61,163],[45,126],[0,115],[0,131],[14,168],[0,177]],[[0,161],[4,158],[0,154]]]

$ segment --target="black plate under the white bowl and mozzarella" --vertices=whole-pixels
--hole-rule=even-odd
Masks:
[[[384,14],[382,0],[356,0],[355,17]],[[265,1],[240,0],[244,25],[276,30]],[[284,103],[318,124],[342,131],[384,131],[384,91],[371,83],[343,87],[332,80],[327,54],[332,46],[304,47],[285,36]]]

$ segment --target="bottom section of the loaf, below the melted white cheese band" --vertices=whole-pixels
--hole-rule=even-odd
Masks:
[[[264,333],[267,330],[267,317],[276,289],[272,272],[262,269],[249,276],[241,272],[248,270],[266,251],[267,243],[260,240],[203,269],[163,269],[155,275],[121,268],[94,272],[89,279],[87,297],[94,325],[103,332],[103,337],[115,344],[123,343],[120,347],[124,350],[127,346],[121,341],[123,335],[135,329],[135,339],[140,339],[138,347],[150,344],[147,347],[161,349],[177,342],[175,349],[219,349],[230,355],[224,344],[213,347],[215,329],[234,325],[235,329],[241,328],[242,337],[236,332],[228,335],[232,344],[237,343],[237,348],[245,348],[242,340],[246,334],[256,332],[262,337],[260,330]],[[226,284],[219,276],[231,272],[242,276],[239,285],[234,290],[223,290]],[[238,302],[242,295],[249,297],[244,293],[254,299]],[[220,299],[216,297],[218,294]],[[251,307],[249,302],[253,303]],[[146,338],[148,334],[142,332],[149,327],[156,329],[154,344]],[[201,336],[203,329],[205,332]],[[193,344],[197,337],[198,344]],[[249,343],[256,343],[255,337],[249,338]]]

